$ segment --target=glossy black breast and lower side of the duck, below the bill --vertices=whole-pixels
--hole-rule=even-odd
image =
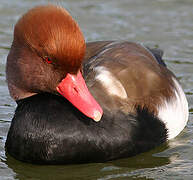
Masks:
[[[165,125],[137,108],[137,115],[110,113],[100,122],[67,100],[38,94],[18,101],[6,141],[16,159],[42,164],[104,162],[147,151],[167,138]]]

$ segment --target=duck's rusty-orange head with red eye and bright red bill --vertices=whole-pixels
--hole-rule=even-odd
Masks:
[[[60,94],[99,121],[102,109],[81,74],[85,48],[78,24],[65,9],[47,5],[28,11],[15,25],[7,58],[7,82],[13,99],[43,92]]]

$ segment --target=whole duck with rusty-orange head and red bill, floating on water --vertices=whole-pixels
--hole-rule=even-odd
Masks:
[[[188,103],[162,55],[129,41],[86,43],[63,7],[33,7],[7,57],[17,107],[6,153],[34,164],[106,162],[175,138]]]

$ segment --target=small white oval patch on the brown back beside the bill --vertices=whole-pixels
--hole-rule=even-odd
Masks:
[[[106,91],[111,94],[118,96],[122,99],[127,98],[127,93],[121,82],[113,76],[107,68],[99,66],[95,68],[96,71],[96,80],[100,81]]]

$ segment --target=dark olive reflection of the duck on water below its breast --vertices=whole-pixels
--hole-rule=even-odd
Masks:
[[[171,163],[170,158],[152,156],[167,149],[167,144],[136,157],[107,163],[80,164],[68,166],[37,166],[19,162],[8,155],[6,164],[19,179],[109,179],[109,177],[132,177],[142,168],[154,168]],[[47,173],[49,172],[49,173]],[[70,172],[70,173],[69,173]],[[57,176],[56,176],[57,175]],[[136,177],[137,174],[135,174]]]

